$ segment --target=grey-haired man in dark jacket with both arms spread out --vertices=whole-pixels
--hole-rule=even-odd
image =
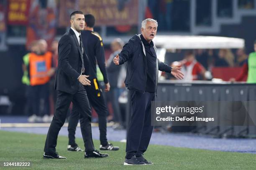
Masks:
[[[152,164],[143,158],[143,153],[148,148],[153,131],[151,101],[155,100],[158,70],[169,72],[178,79],[183,78],[180,68],[169,67],[157,59],[156,46],[152,41],[157,30],[156,20],[148,18],[141,25],[142,34],[134,35],[113,59],[115,65],[126,62],[125,86],[131,94],[132,116],[128,125],[124,165]]]

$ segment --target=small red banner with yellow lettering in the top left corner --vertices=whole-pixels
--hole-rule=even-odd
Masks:
[[[30,0],[8,0],[8,24],[27,25]]]

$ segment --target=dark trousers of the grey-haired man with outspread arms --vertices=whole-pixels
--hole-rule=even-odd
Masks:
[[[155,100],[155,93],[129,90],[131,93],[132,115],[128,125],[126,158],[141,156],[148,148],[152,135],[151,101]]]

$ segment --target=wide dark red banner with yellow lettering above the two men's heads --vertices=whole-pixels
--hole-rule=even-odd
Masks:
[[[69,15],[74,10],[81,10],[84,14],[94,15],[96,26],[138,24],[138,0],[61,0],[59,26],[70,25]]]

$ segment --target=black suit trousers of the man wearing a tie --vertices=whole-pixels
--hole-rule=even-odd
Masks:
[[[95,149],[92,141],[91,109],[84,86],[79,83],[79,90],[74,95],[57,91],[56,110],[47,134],[44,147],[45,152],[56,152],[55,148],[57,145],[59,130],[64,125],[67,110],[71,102],[73,102],[73,105],[80,113],[79,120],[86,152],[90,152]]]

